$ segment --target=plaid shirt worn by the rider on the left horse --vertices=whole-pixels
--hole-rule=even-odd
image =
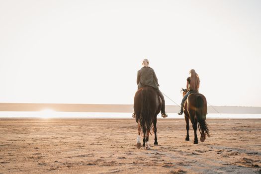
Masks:
[[[149,86],[159,90],[158,79],[151,67],[143,67],[138,71],[137,85],[138,89],[141,87]]]

